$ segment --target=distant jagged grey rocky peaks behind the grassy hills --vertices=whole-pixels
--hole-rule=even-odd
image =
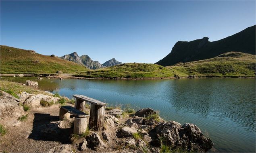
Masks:
[[[100,64],[99,61],[93,61],[88,55],[82,55],[79,57],[77,55],[77,52],[74,52],[74,53],[71,53],[68,55],[64,55],[60,58],[65,59],[67,61],[73,61],[77,64],[87,67],[88,69],[100,69],[103,67],[110,67],[110,66],[122,64],[121,62],[117,61],[114,58],[106,61],[104,64]]]

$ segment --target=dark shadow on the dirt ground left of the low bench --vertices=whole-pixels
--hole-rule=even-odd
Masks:
[[[33,129],[28,139],[39,141],[58,141],[63,144],[71,143],[69,136],[73,132],[73,129],[59,128],[58,122],[56,122],[59,121],[59,116],[50,116],[50,114],[39,113],[35,113],[34,115]]]

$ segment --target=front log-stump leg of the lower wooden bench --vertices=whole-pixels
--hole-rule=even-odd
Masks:
[[[81,135],[86,131],[87,128],[87,118],[77,118],[74,120],[74,134]]]

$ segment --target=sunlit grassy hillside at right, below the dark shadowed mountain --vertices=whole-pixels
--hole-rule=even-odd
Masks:
[[[211,59],[168,66],[179,76],[255,77],[256,56],[229,52]]]

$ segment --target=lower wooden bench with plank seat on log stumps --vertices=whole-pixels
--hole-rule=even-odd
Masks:
[[[60,107],[60,120],[69,118],[70,114],[75,116],[74,120],[74,134],[81,135],[87,129],[87,120],[90,117],[89,115],[81,112],[80,110],[75,109],[72,106],[61,106]]]

